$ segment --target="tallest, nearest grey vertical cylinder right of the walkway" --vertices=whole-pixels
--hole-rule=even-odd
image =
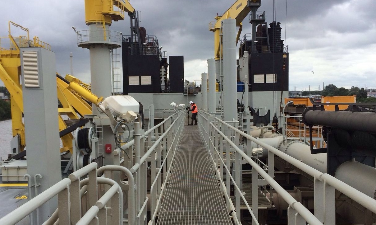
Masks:
[[[237,120],[236,20],[223,20],[223,114],[224,121]]]

